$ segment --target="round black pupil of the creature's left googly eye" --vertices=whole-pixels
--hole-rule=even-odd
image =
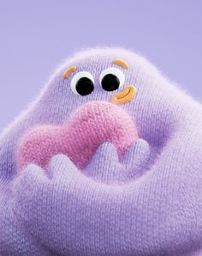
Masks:
[[[76,82],[76,91],[78,94],[85,96],[91,94],[94,88],[94,84],[91,79],[87,77],[81,77],[78,82]]]

